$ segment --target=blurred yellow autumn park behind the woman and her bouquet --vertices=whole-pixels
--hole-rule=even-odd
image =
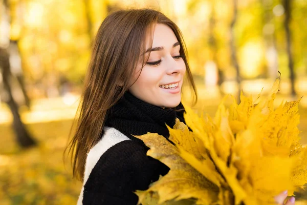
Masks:
[[[81,183],[62,154],[91,42],[109,12],[144,7],[182,30],[196,108],[266,94],[278,71],[276,105],[307,94],[306,0],[0,0],[0,204],[76,203]],[[306,97],[299,112],[307,144]]]

